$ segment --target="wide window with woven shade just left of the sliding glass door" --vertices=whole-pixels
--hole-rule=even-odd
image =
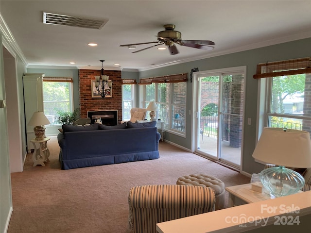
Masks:
[[[185,135],[187,74],[161,76],[140,80],[144,84],[145,108],[150,101],[158,106],[157,118],[166,130]]]

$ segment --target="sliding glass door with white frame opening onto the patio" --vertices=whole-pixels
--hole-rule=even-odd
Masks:
[[[194,151],[241,169],[245,67],[194,73]]]

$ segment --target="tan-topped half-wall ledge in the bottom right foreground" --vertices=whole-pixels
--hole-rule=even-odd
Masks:
[[[282,206],[287,207],[286,210],[281,208]],[[268,207],[276,208],[274,208],[275,211],[270,211]],[[294,211],[297,208],[299,210]],[[294,211],[294,213],[290,213],[291,211]],[[254,216],[256,221],[254,221]],[[291,216],[294,218],[296,216],[300,217],[300,225],[294,223],[294,226],[284,225],[285,228],[281,228],[280,225],[283,224],[278,222],[277,219],[290,222]],[[265,228],[261,226],[263,220],[266,221]],[[258,221],[261,221],[261,223],[258,223]],[[293,233],[305,232],[304,229],[310,228],[310,222],[311,191],[307,191],[157,223],[156,231],[158,233],[241,233],[245,231],[254,232],[252,230],[257,228],[259,231],[256,232]]]

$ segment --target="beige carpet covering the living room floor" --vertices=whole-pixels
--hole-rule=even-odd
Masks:
[[[105,146],[109,144],[101,145],[102,150]],[[70,170],[60,169],[56,137],[48,147],[46,166],[33,167],[29,154],[24,171],[11,174],[13,214],[8,233],[127,233],[132,186],[174,184],[188,174],[210,174],[226,186],[250,180],[165,142],[160,142],[156,160]]]

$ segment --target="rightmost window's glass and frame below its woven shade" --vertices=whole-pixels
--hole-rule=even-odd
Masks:
[[[296,74],[273,77],[269,80],[271,86],[268,92],[267,121],[268,127],[287,128],[310,131],[311,92],[306,82],[311,81],[311,74]],[[308,90],[309,89],[309,90]]]

